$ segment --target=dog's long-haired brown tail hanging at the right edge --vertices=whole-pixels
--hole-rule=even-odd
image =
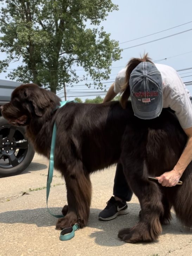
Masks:
[[[183,185],[173,195],[173,207],[179,221],[187,228],[192,227],[192,162],[183,173]]]

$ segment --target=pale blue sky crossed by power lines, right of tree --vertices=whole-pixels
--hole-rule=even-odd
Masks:
[[[119,11],[109,13],[107,20],[102,22],[104,30],[111,34],[111,39],[118,40],[121,48],[127,48],[148,41],[167,37],[176,33],[180,33],[192,28],[192,1],[191,0],[112,0],[114,4],[119,5]],[[188,24],[185,24],[188,23]],[[185,24],[183,26],[179,26]],[[147,36],[171,27],[179,26],[171,30]],[[144,37],[133,40],[139,37]],[[133,41],[129,41],[133,40]],[[129,41],[127,43],[123,43]],[[128,60],[132,57],[140,57],[144,52],[148,52],[153,61],[172,66],[175,70],[192,68],[192,30],[178,35],[168,37],[152,43],[143,44],[123,50],[121,59],[114,62],[111,66],[110,79],[106,81],[106,88],[115,79],[116,74],[123,68]],[[3,56],[1,56],[2,59]],[[165,59],[166,60],[162,60]],[[14,68],[17,63],[12,64],[9,68]],[[77,68],[80,69],[80,68]],[[78,71],[79,75],[83,75],[83,71]],[[192,69],[178,72],[183,77],[184,82],[192,81]],[[1,73],[0,79],[5,79],[6,74]],[[184,77],[187,76],[187,77]],[[83,82],[79,83],[83,84]],[[77,89],[78,88],[78,89]],[[75,96],[79,96],[80,92],[94,91],[85,86],[68,87],[68,96],[72,96],[72,92],[76,92]],[[192,86],[187,87],[192,95]],[[78,91],[78,92],[77,92]],[[95,90],[98,92],[98,90]],[[90,93],[91,94],[91,93]],[[74,97],[68,97],[73,100]],[[92,98],[91,96],[82,97]],[[95,97],[95,96],[93,96]],[[104,96],[102,96],[104,97]]]

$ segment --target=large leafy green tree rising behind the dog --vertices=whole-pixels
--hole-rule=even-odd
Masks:
[[[109,78],[109,67],[121,53],[117,41],[99,27],[109,12],[118,9],[111,0],[0,2],[0,51],[7,56],[0,62],[0,72],[21,60],[8,77],[33,81],[53,92],[81,80],[74,66],[83,67],[83,79],[90,75],[94,87],[101,88],[101,79]]]

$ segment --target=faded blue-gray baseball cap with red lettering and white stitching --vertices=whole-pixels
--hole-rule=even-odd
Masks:
[[[135,116],[141,119],[158,117],[163,107],[162,77],[155,64],[141,62],[131,72],[130,97]]]

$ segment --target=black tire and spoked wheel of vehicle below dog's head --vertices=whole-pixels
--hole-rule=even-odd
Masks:
[[[16,127],[0,117],[0,177],[23,172],[31,163],[34,148],[28,142],[24,127]]]

